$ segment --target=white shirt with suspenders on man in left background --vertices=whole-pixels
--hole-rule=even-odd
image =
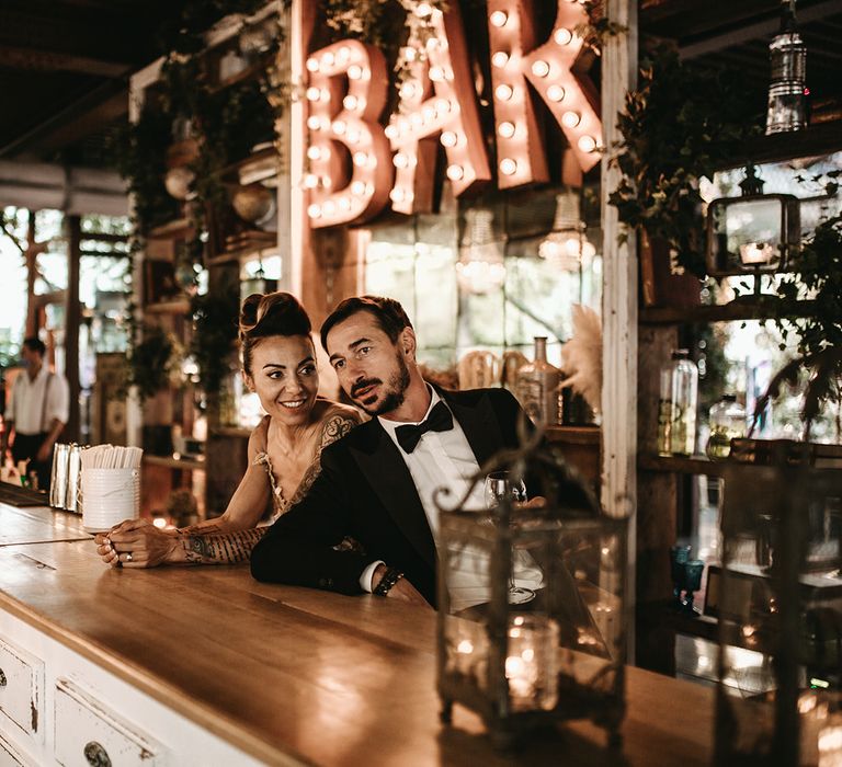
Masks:
[[[27,435],[48,432],[54,419],[67,423],[69,415],[70,392],[64,376],[50,375],[46,365],[41,366],[35,380],[30,380],[26,370],[15,376],[5,405],[5,419],[14,421],[15,432]]]

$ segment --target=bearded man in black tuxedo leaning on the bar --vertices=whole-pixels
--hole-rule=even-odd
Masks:
[[[373,417],[325,449],[307,495],[254,548],[252,575],[435,606],[434,492],[445,486],[462,499],[480,466],[517,446],[523,411],[503,389],[440,391],[426,384],[414,331],[394,299],[342,301],[325,321],[321,342],[342,389]],[[481,485],[474,493],[473,507],[483,507]],[[366,553],[334,548],[346,536]],[[534,565],[515,569],[515,580],[542,585]],[[483,600],[470,599],[482,584],[468,577],[464,585],[463,606]]]

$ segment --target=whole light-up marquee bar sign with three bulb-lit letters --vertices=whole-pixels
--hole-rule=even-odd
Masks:
[[[602,123],[596,89],[578,71],[588,22],[577,0],[558,0],[548,41],[535,46],[534,0],[488,0],[492,93],[500,188],[549,179],[527,81],[547,104],[582,172],[599,162]],[[354,39],[307,58],[307,158],[304,185],[314,228],[376,216],[387,204],[403,214],[429,211],[437,142],[456,196],[491,180],[458,3],[443,13],[425,2],[414,13],[432,34],[425,56],[410,62],[397,111],[384,128],[388,77],[383,54]],[[346,87],[345,87],[346,81]],[[351,172],[335,144],[344,145]]]

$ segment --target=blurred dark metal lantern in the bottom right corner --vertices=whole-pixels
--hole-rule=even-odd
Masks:
[[[842,472],[810,466],[809,445],[752,442],[722,465],[722,562],[707,584],[719,622],[714,763],[842,764]],[[758,654],[764,678],[747,697]]]

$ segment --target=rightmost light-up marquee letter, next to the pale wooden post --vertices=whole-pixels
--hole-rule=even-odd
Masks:
[[[583,44],[573,30],[588,23],[588,12],[576,0],[558,0],[549,41],[525,54],[533,42],[532,16],[532,0],[488,0],[500,188],[547,179],[524,78],[547,103],[582,171],[600,161],[596,89],[587,75],[573,73]]]

